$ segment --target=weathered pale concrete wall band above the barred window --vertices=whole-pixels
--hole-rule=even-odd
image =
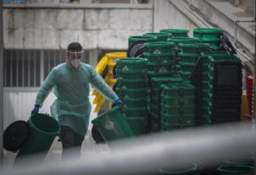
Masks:
[[[129,36],[152,31],[151,4],[140,4],[139,8],[126,6],[6,5],[4,48],[59,49],[75,41],[86,49],[125,49]]]

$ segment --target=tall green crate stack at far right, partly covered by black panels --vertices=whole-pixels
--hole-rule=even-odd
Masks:
[[[214,51],[201,53],[202,59],[202,119],[203,123],[212,124],[212,88],[213,88],[213,67],[215,63],[233,60],[240,62],[241,60],[230,55],[227,51]]]

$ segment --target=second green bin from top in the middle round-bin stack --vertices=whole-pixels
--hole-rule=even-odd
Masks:
[[[161,63],[174,63],[176,61],[175,54],[172,53],[161,53],[161,54],[151,54],[143,52],[143,57],[148,59],[149,62],[161,62]]]

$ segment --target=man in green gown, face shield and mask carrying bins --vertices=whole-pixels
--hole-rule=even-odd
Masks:
[[[102,76],[91,65],[81,63],[82,53],[83,49],[79,42],[68,45],[66,63],[56,65],[49,72],[38,90],[32,110],[32,114],[38,114],[44,99],[54,89],[56,99],[50,107],[50,113],[61,125],[62,160],[65,156],[80,155],[90,119],[90,84],[113,105],[123,105]]]

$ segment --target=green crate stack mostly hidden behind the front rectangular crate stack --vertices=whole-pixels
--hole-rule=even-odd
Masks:
[[[160,86],[163,84],[182,83],[180,77],[154,77],[151,80],[150,89],[150,116],[152,131],[160,131]]]

